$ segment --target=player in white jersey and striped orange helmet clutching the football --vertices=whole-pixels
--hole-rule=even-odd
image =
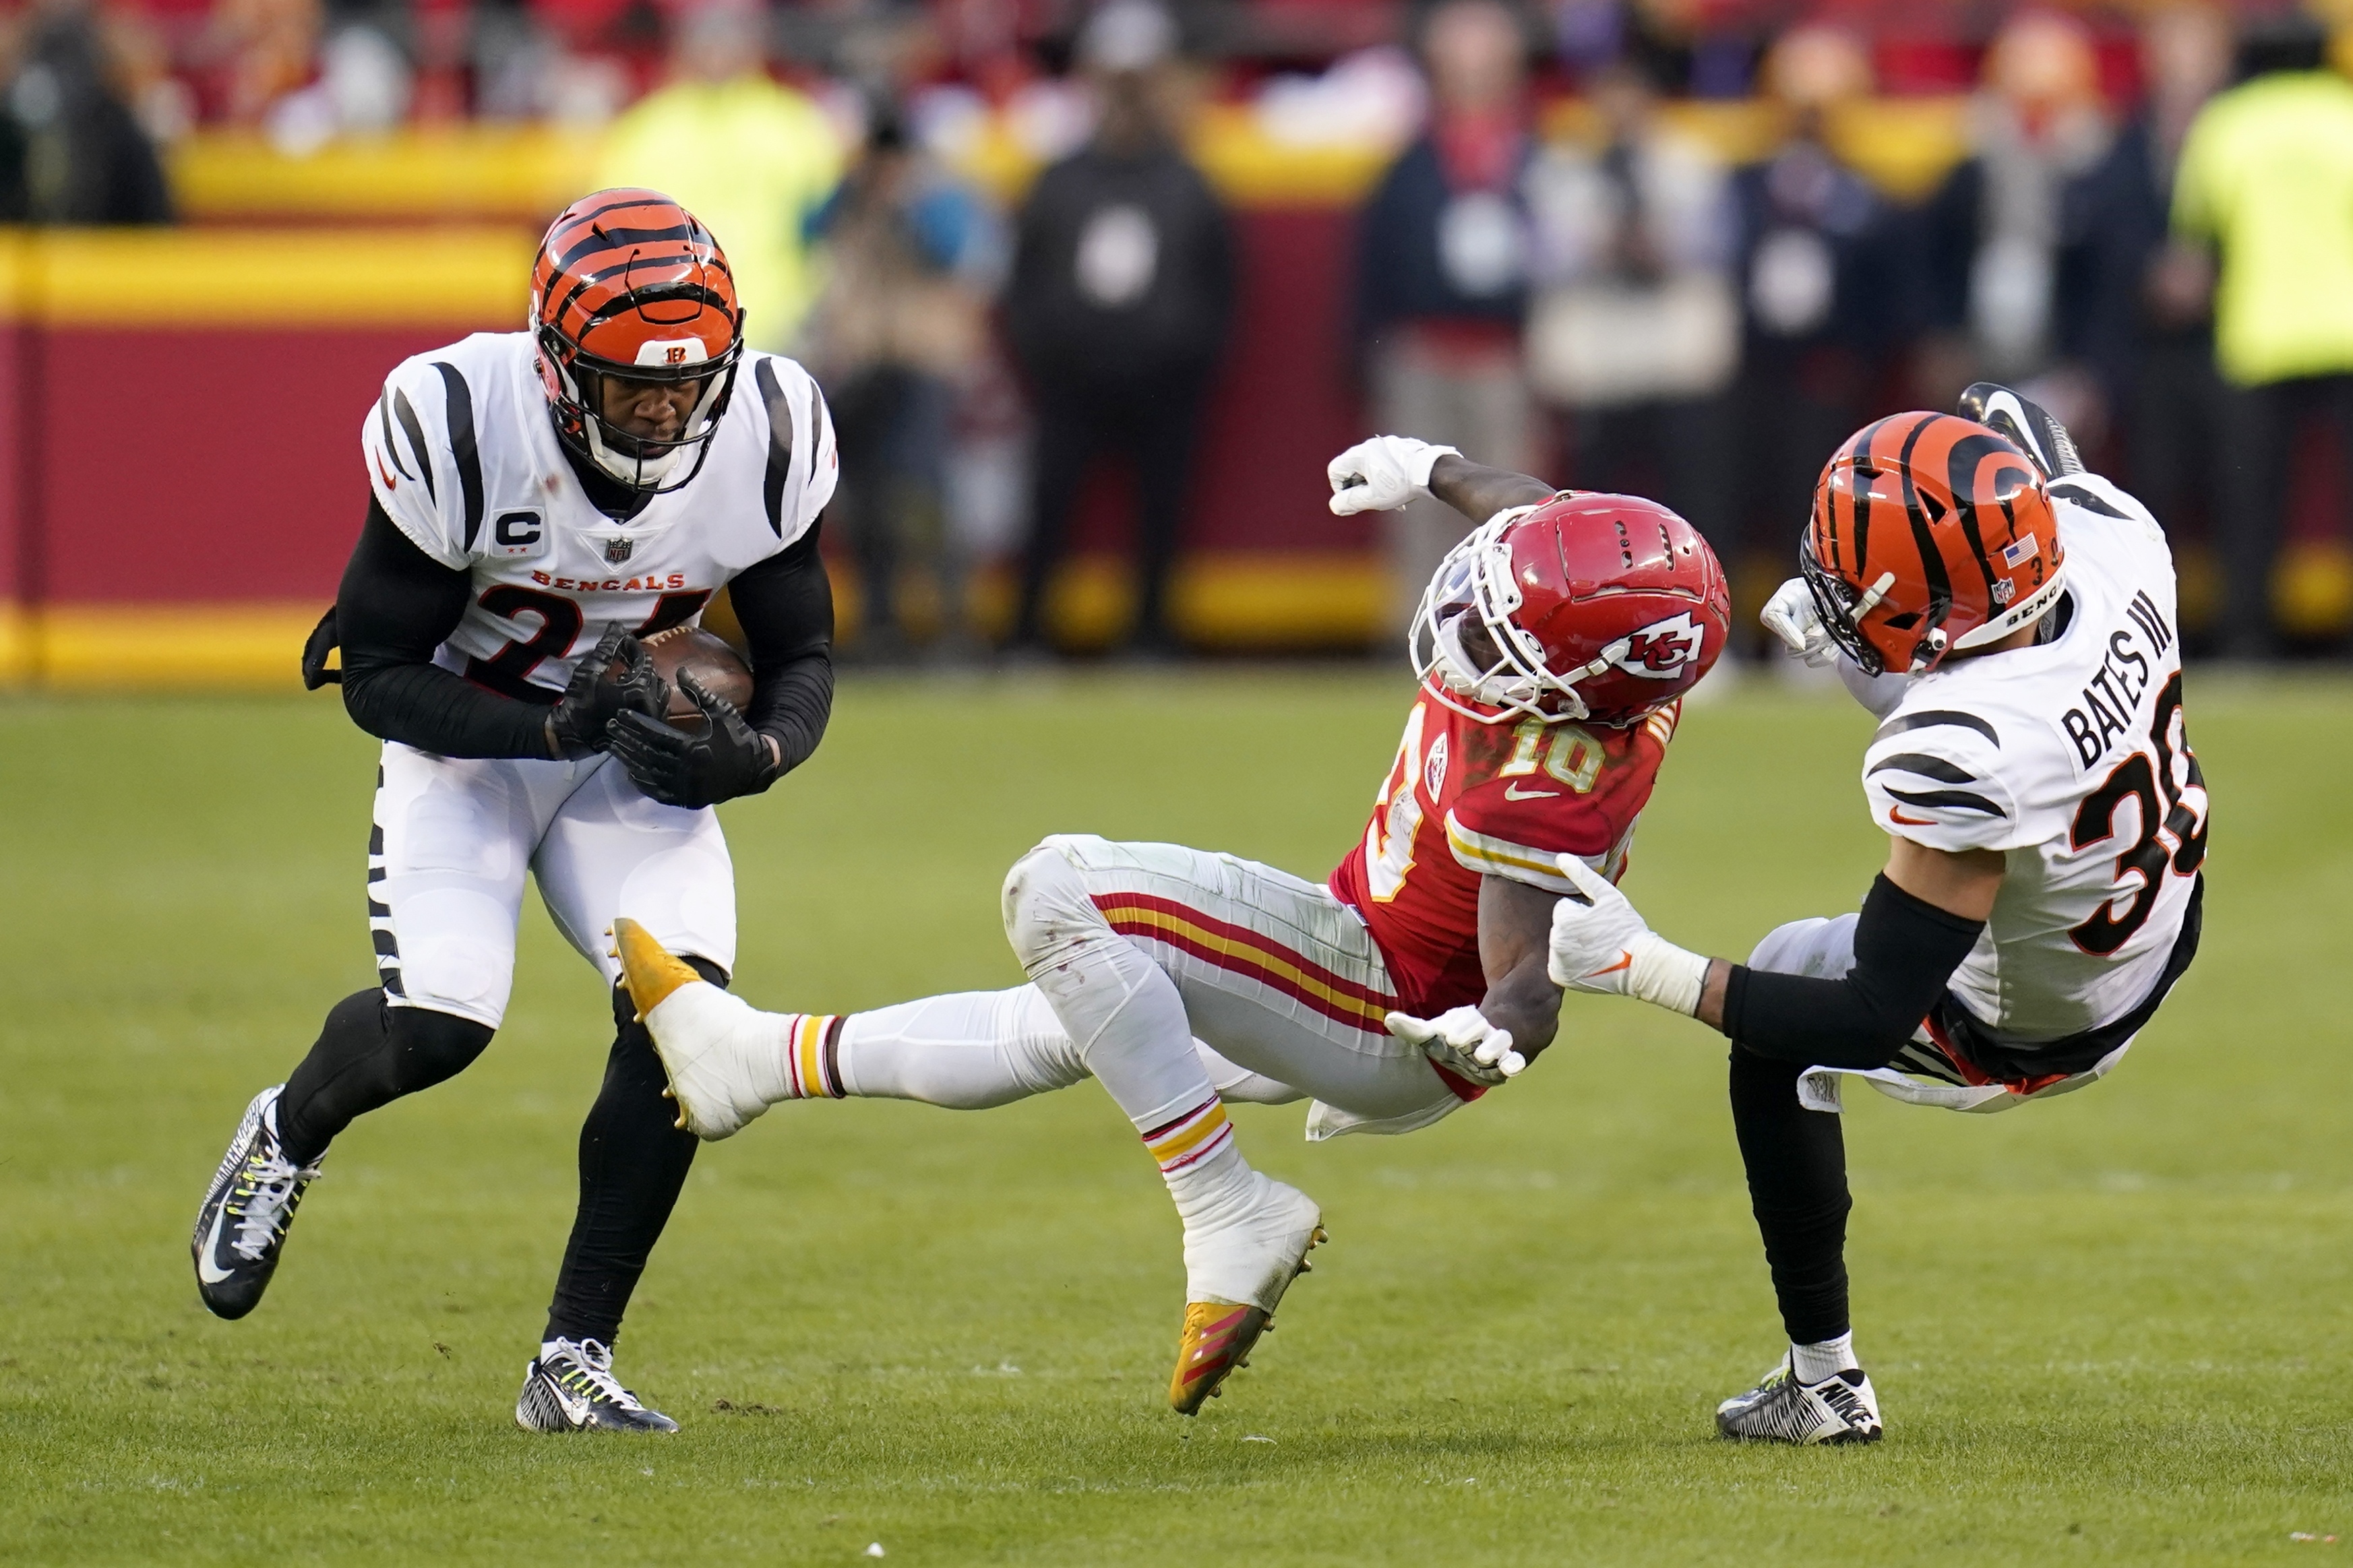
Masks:
[[[816,522],[833,425],[791,360],[744,348],[718,240],[654,190],[555,219],[525,331],[407,360],[367,411],[367,520],[306,682],[341,679],[384,738],[367,914],[379,985],[327,1013],[285,1084],[245,1110],[198,1211],[198,1291],[252,1312],[327,1143],[489,1044],[515,966],[525,872],[602,969],[631,917],[727,983],[734,875],[711,806],[765,790],[826,731],[833,590]],[[739,712],[661,722],[642,637],[729,588],[751,644]],[[327,656],[341,646],[341,670]],[[612,1375],[621,1312],[694,1159],[661,1065],[614,992],[616,1039],[581,1128],[581,1204],[515,1420],[675,1432]]]

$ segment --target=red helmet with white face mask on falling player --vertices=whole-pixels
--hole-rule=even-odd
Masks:
[[[1633,724],[1697,686],[1729,632],[1699,529],[1640,496],[1562,491],[1454,545],[1407,646],[1428,693],[1482,724]]]

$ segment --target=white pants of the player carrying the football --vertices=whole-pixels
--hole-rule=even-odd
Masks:
[[[499,1027],[515,985],[525,872],[609,985],[616,914],[671,952],[734,969],[734,863],[715,811],[664,806],[612,757],[456,759],[384,745],[367,924],[393,1006]]]

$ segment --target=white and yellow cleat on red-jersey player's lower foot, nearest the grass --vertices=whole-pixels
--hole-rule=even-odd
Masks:
[[[1221,1225],[1186,1225],[1186,1309],[1176,1338],[1169,1408],[1193,1415],[1249,1366],[1249,1349],[1275,1326],[1275,1305],[1311,1272],[1308,1248],[1325,1239],[1315,1199],[1264,1171],[1249,1173],[1249,1204]]]

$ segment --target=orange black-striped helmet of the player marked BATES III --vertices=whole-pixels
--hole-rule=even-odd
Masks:
[[[1925,675],[2000,642],[2066,578],[2042,473],[1958,414],[1857,430],[1814,484],[1798,564],[1824,630],[1871,675]]]

